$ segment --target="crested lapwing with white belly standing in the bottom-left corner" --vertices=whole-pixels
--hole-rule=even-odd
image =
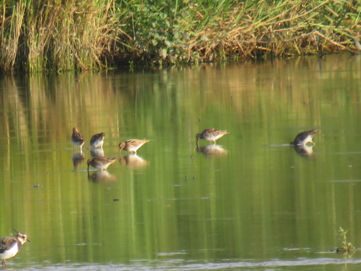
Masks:
[[[3,268],[6,267],[6,259],[14,257],[26,241],[30,242],[26,234],[18,231],[15,232],[17,233],[16,236],[5,236],[0,239],[0,258],[3,259],[1,262]]]

